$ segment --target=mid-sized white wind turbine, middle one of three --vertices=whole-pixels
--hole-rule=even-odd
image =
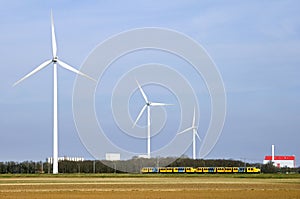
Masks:
[[[139,82],[137,80],[136,80],[136,83],[137,83],[137,85],[139,87],[140,92],[143,95],[143,98],[144,98],[146,104],[144,105],[144,107],[142,108],[142,110],[139,113],[138,117],[136,118],[136,120],[135,120],[132,128],[135,127],[136,123],[139,121],[140,117],[143,115],[144,111],[147,108],[147,129],[148,129],[147,130],[147,156],[148,156],[148,158],[150,158],[150,152],[151,152],[151,150],[150,150],[150,148],[151,148],[151,145],[150,145],[150,142],[151,142],[151,138],[150,138],[150,136],[151,136],[151,132],[150,132],[150,123],[151,123],[150,110],[151,110],[151,108],[150,107],[154,107],[154,106],[169,106],[169,105],[172,105],[172,104],[150,102],[148,100],[145,92],[143,91],[141,85],[139,84]]]

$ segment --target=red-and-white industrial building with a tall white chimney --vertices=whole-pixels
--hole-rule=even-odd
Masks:
[[[273,165],[278,168],[288,167],[295,168],[296,167],[296,156],[275,156],[275,147],[272,145],[272,155],[265,156],[263,164],[267,164],[269,162],[273,162]]]

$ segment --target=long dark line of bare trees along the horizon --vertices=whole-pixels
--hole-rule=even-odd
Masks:
[[[240,160],[228,159],[197,159],[193,160],[187,157],[181,158],[137,158],[119,161],[100,161],[85,160],[60,161],[59,173],[139,173],[142,167],[159,167],[161,165],[169,167],[250,167],[261,168],[263,173],[300,173],[299,168],[277,168],[270,162],[268,164],[250,164]],[[34,173],[52,173],[52,165],[42,161],[23,161],[23,162],[0,162],[0,173],[11,174],[34,174]]]

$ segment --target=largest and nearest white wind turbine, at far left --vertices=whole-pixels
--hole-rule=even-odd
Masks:
[[[51,38],[52,38],[52,59],[49,59],[42,64],[40,64],[38,67],[36,67],[33,71],[25,75],[23,78],[18,80],[16,83],[14,83],[13,86],[16,86],[21,81],[27,79],[31,75],[37,73],[41,69],[45,68],[49,64],[53,63],[53,174],[58,173],[58,117],[57,117],[57,64],[59,64],[61,67],[70,70],[74,73],[77,73],[79,75],[82,75],[86,78],[89,78],[93,81],[96,81],[89,77],[88,75],[80,72],[79,70],[71,67],[70,65],[64,63],[63,61],[59,60],[56,53],[57,53],[57,46],[56,46],[56,39],[55,39],[55,31],[54,31],[54,22],[53,22],[53,16],[51,11]]]

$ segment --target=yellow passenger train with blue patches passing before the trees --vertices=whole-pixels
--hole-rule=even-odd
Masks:
[[[143,167],[141,173],[260,173],[256,167]]]

